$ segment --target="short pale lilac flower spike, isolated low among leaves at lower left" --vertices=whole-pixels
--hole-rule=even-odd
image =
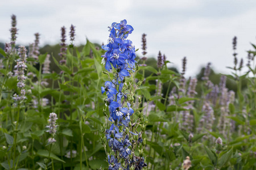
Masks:
[[[46,128],[49,129],[49,130],[47,130],[47,132],[52,135],[52,137],[48,139],[48,143],[49,144],[52,144],[52,143],[56,142],[56,140],[53,138],[53,136],[57,132],[57,129],[56,129],[57,128],[57,125],[56,125],[56,120],[57,119],[58,118],[57,118],[57,114],[56,113],[50,113],[49,114],[49,120],[48,120],[49,125],[46,126]]]

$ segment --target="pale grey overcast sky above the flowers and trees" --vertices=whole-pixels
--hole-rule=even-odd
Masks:
[[[208,62],[217,72],[229,73],[234,36],[238,58],[245,61],[250,42],[256,44],[255,0],[9,0],[0,5],[0,42],[10,41],[11,14],[18,21],[17,43],[27,45],[39,32],[41,46],[59,43],[60,27],[71,24],[76,26],[76,44],[85,44],[86,37],[106,44],[107,27],[126,19],[134,28],[129,38],[135,48],[141,48],[141,35],[146,33],[148,57],[160,50],[180,70],[186,56],[187,76],[195,76]]]

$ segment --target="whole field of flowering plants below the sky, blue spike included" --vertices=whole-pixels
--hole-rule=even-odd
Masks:
[[[76,27],[62,27],[54,55],[39,49],[39,33],[17,46],[11,16],[0,48],[0,169],[256,169],[256,46],[240,58],[234,37],[230,75],[212,79],[208,63],[186,78],[186,57],[181,73],[161,52],[148,62],[146,34],[135,48],[134,29],[114,22],[107,44],[79,48]]]

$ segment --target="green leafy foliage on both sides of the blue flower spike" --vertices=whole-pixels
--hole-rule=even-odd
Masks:
[[[20,95],[18,79],[7,75],[14,71],[18,55],[0,49],[5,57],[0,70],[0,169],[108,169],[107,156],[112,151],[104,143],[108,143],[109,112],[104,109],[108,103],[101,87],[113,73],[104,72],[101,56],[105,51],[99,47],[89,40],[86,45],[70,45],[67,63],[60,64],[60,46],[44,46],[38,61],[27,59],[26,100],[20,103],[13,100],[14,94]],[[251,57],[256,56],[255,50],[249,51]],[[47,54],[51,54],[51,71],[43,73]],[[132,137],[131,145],[138,146],[134,152],[145,158],[147,169],[185,169],[187,162],[189,169],[256,166],[256,69],[252,62],[244,67],[246,73],[229,67],[233,73],[225,75],[224,86],[219,85],[223,75],[213,70],[208,79],[202,79],[204,68],[195,87],[193,78],[168,68],[168,61],[160,68],[155,58],[138,63],[147,66],[138,67],[124,88],[132,94],[126,99],[134,108],[131,119],[139,118],[129,128],[143,132]],[[214,94],[213,87],[220,92]],[[54,136],[46,128],[52,112],[58,118]],[[51,137],[56,140],[52,145],[48,143]],[[222,141],[216,144],[219,137]]]

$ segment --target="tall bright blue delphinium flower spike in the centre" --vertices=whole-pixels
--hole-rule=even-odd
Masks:
[[[130,155],[134,154],[131,148],[130,135],[138,135],[129,130],[130,116],[134,113],[129,103],[128,95],[122,90],[125,78],[135,68],[135,48],[127,37],[133,32],[133,27],[127,25],[126,20],[120,23],[113,23],[110,28],[108,44],[102,45],[102,49],[106,50],[102,55],[102,63],[105,69],[115,70],[114,79],[105,82],[105,86],[101,87],[101,92],[106,92],[106,106],[109,109],[109,121],[113,122],[109,129],[105,130],[105,137],[109,147],[115,152],[115,156],[109,155],[109,169],[123,168],[120,158],[125,162],[123,165],[129,169],[135,160],[130,160]],[[130,73],[129,73],[130,71]],[[106,73],[108,74],[108,73]],[[122,130],[120,130],[122,129]],[[142,142],[142,140],[141,140]],[[119,158],[119,159],[117,159]],[[135,157],[133,156],[135,159]]]

